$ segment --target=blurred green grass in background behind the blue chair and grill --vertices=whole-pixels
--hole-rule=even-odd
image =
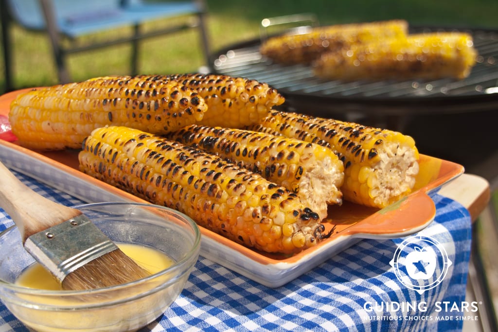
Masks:
[[[207,0],[208,33],[212,51],[233,43],[257,38],[262,18],[311,12],[320,24],[361,22],[403,18],[413,25],[451,25],[458,27],[498,28],[497,0]],[[155,24],[168,24],[156,22]],[[146,28],[150,28],[151,25]],[[106,38],[128,30],[100,34]],[[48,39],[43,34],[13,31],[13,78],[16,88],[57,83]],[[157,37],[141,44],[139,71],[143,74],[195,72],[203,65],[195,31]],[[75,54],[69,58],[74,81],[101,75],[129,73],[128,45]],[[0,78],[0,92],[4,83]]]

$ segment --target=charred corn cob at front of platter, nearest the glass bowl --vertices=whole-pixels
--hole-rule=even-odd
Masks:
[[[141,130],[95,129],[85,139],[79,161],[83,172],[151,203],[179,210],[249,247],[291,253],[327,236],[318,215],[294,193],[213,154]],[[259,197],[256,207],[248,203],[253,195]],[[284,206],[288,213],[283,212]],[[273,234],[281,233],[274,237],[263,238],[254,228],[267,232],[282,225],[285,233],[274,229]],[[293,240],[301,232],[309,240]]]

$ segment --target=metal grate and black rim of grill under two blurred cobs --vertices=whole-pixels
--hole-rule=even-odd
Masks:
[[[219,74],[247,77],[276,88],[284,108],[316,116],[363,114],[401,117],[428,113],[498,110],[498,30],[412,27],[411,33],[465,31],[479,52],[477,64],[464,80],[341,82],[318,79],[309,66],[284,66],[263,57],[260,39],[224,48],[212,56]]]

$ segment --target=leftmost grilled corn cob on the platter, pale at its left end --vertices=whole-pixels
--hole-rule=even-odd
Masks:
[[[195,123],[206,110],[197,92],[175,81],[101,77],[21,94],[9,121],[22,145],[56,150],[80,148],[93,129],[111,124],[163,134]]]

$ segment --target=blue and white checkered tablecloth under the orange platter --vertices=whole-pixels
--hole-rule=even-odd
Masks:
[[[82,203],[34,179],[25,184],[61,204]],[[453,262],[440,284],[422,294],[406,287],[389,262],[400,243],[362,240],[279,288],[262,286],[199,257],[184,291],[156,322],[140,332],[160,331],[461,331],[479,303],[465,290],[471,221],[459,203],[432,194],[436,218],[417,233],[441,243]],[[0,209],[0,230],[12,221]],[[399,306],[416,308],[406,312]],[[376,306],[376,310],[373,310]],[[467,307],[466,307],[467,306]],[[0,303],[0,331],[27,332]]]

